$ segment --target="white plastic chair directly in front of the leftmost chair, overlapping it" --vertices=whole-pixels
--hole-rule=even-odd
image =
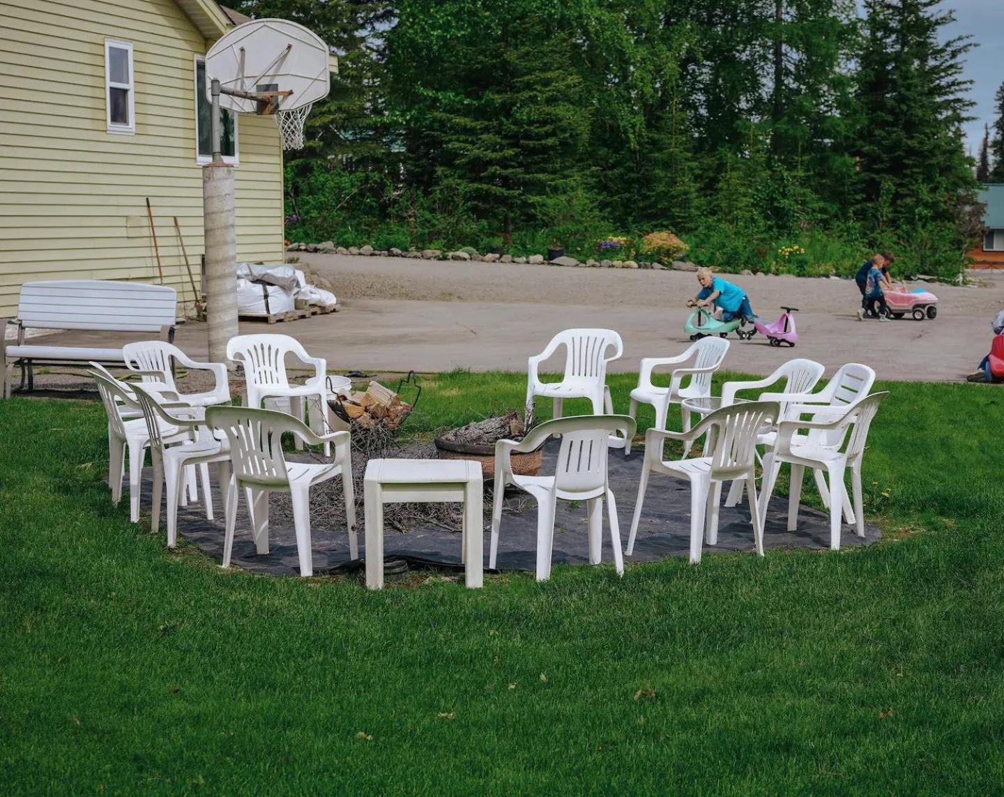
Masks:
[[[217,467],[220,495],[226,495],[230,484],[230,449],[210,434],[205,421],[176,418],[158,402],[154,393],[136,385],[136,400],[143,410],[150,435],[150,454],[154,463],[154,509],[152,527],[156,534],[161,527],[161,496],[165,483],[168,488],[168,547],[178,545],[178,506],[182,503],[186,468],[198,466],[203,473],[203,496],[206,518],[213,520],[213,494],[209,485],[209,464]],[[190,440],[168,446],[164,432],[187,429]]]

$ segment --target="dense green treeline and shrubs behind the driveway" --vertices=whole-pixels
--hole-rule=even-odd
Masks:
[[[339,52],[310,146],[287,159],[288,238],[581,259],[670,229],[733,271],[842,274],[881,246],[953,279],[980,227],[971,45],[942,35],[936,0],[857,5],[239,4]],[[1004,86],[998,104],[994,170]],[[777,258],[796,243],[798,262]]]

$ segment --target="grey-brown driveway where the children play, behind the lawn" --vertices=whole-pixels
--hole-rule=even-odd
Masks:
[[[242,332],[284,332],[327,359],[335,370],[523,370],[528,355],[570,326],[620,332],[623,357],[611,369],[638,369],[643,356],[681,351],[684,306],[697,288],[693,273],[454,263],[403,258],[307,255],[303,265],[335,284],[341,312],[292,323],[241,324]],[[847,361],[872,365],[881,378],[958,380],[986,353],[990,319],[1004,301],[1004,275],[982,272],[973,286],[933,286],[934,320],[856,320],[857,288],[849,280],[734,277],[757,313],[773,319],[779,305],[800,308],[798,345],[772,348],[759,335],[732,338],[726,367],[768,373],[792,356],[827,370]],[[129,335],[64,333],[53,344],[112,345]],[[177,342],[206,356],[204,324],[178,329]],[[552,362],[553,368],[561,366]]]

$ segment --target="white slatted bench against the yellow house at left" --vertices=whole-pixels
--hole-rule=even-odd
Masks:
[[[32,329],[93,329],[110,332],[158,332],[162,340],[175,336],[178,293],[164,285],[143,282],[77,279],[25,282],[17,304],[17,318],[0,320],[0,348],[4,361],[3,397],[11,393],[10,377],[21,366],[21,387],[27,375],[34,386],[35,365],[78,365],[95,360],[124,365],[120,348],[47,346],[25,343]],[[18,325],[17,342],[7,344],[6,326]]]

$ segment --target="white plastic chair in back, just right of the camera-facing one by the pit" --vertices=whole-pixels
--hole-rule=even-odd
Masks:
[[[722,365],[729,350],[729,341],[721,337],[703,337],[692,343],[687,350],[675,357],[645,357],[638,372],[638,386],[631,391],[631,408],[628,415],[638,418],[640,404],[652,405],[656,410],[656,429],[666,429],[670,405],[679,404],[684,398],[711,397],[711,377]],[[694,360],[692,365],[683,366]],[[669,387],[658,387],[652,383],[652,372],[664,365],[678,365],[673,369]],[[684,379],[688,379],[683,386]],[[691,414],[681,408],[683,428],[690,429]],[[689,447],[688,447],[689,449]],[[631,453],[631,441],[624,446],[624,454]]]

